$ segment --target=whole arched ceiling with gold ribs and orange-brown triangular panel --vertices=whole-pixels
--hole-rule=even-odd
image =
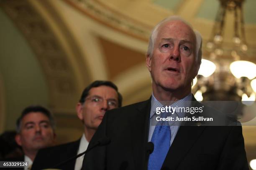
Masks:
[[[253,3],[252,0],[246,1],[245,11],[251,11]],[[124,94],[131,94],[131,91],[138,94],[136,89],[140,87],[128,90],[123,83],[129,80],[138,86],[143,84],[141,79],[135,80],[136,76],[132,75],[132,70],[138,67],[144,72],[142,77],[147,77],[150,89],[144,61],[148,36],[154,25],[169,15],[180,15],[199,30],[207,42],[218,8],[217,0],[3,0],[2,4],[9,5],[3,6],[4,9],[16,23],[20,23],[18,26],[22,25],[19,27],[41,56],[39,60],[49,75],[46,77],[51,83],[50,95],[57,112],[67,112],[67,108],[61,109],[61,105],[67,106],[66,101],[61,101],[67,96],[63,93],[74,96],[72,89],[76,89],[77,97],[83,86],[92,80],[113,80]],[[252,15],[246,16],[250,16],[246,19],[247,41],[250,47],[255,47],[256,19]],[[227,29],[231,28],[227,26]],[[231,38],[227,38],[225,44],[229,45],[230,41]],[[254,54],[255,48],[250,49]],[[255,62],[255,57],[251,56],[248,60]],[[73,97],[74,101],[76,97]],[[127,97],[124,96],[127,99],[125,105],[139,101]],[[72,110],[71,106],[69,110]]]

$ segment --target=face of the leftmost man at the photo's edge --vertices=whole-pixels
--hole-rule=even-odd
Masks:
[[[21,120],[16,142],[26,151],[37,151],[54,145],[55,133],[49,118],[41,112],[30,112]]]

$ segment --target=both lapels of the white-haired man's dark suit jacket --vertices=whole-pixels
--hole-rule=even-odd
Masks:
[[[193,97],[192,106],[201,107],[199,102],[195,102]],[[131,143],[134,169],[143,169],[146,156],[146,144],[148,143],[149,116],[151,110],[151,98],[143,102],[137,107],[135,116],[130,117],[131,125]],[[189,117],[198,115],[188,115]],[[196,124],[180,126],[177,135],[166,155],[163,167],[170,170],[176,169],[189,152],[190,148],[195,144],[199,136],[205,130],[205,126],[197,126]]]

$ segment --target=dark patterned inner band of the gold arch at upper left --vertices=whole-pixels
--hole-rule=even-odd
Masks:
[[[47,79],[59,87],[55,90],[65,93],[74,92],[74,85],[72,85],[74,78],[70,75],[72,69],[67,63],[67,56],[44,18],[28,0],[2,0],[1,7],[23,32],[41,62]],[[59,73],[62,73],[61,77]],[[68,82],[69,85],[61,85],[62,82]],[[66,88],[67,86],[69,88]]]

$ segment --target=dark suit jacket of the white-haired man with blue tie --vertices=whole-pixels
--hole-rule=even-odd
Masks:
[[[106,112],[88,148],[104,136],[111,142],[87,153],[82,170],[145,169],[150,109],[151,99]],[[241,126],[180,126],[162,169],[248,170]]]

